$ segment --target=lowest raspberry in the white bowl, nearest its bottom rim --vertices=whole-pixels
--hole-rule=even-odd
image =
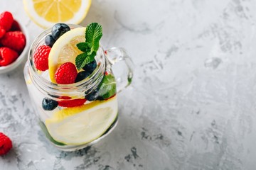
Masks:
[[[6,66],[18,58],[18,53],[9,47],[0,47],[0,66]]]

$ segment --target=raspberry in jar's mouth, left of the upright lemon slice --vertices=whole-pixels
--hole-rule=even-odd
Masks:
[[[41,45],[36,49],[33,55],[33,61],[36,69],[46,71],[48,69],[48,57],[50,53],[50,47],[47,45]]]

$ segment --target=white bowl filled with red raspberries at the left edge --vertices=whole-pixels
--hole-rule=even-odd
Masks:
[[[12,13],[0,13],[0,74],[9,72],[26,58],[28,33]]]

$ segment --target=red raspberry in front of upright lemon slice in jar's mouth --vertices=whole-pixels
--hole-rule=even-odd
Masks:
[[[61,64],[55,72],[55,80],[57,84],[73,84],[75,83],[77,75],[78,71],[75,64],[72,62],[65,62],[64,64]]]

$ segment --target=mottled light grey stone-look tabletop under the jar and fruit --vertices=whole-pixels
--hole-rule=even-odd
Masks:
[[[132,85],[118,94],[119,123],[90,148],[61,152],[41,132],[23,65],[0,75],[0,131],[14,148],[0,169],[255,169],[256,1],[94,0],[82,21],[125,47]],[[21,0],[0,1],[31,40],[43,30]]]

